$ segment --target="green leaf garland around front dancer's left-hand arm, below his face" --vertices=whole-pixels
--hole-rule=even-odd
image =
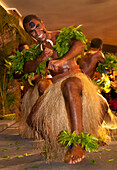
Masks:
[[[23,67],[24,64],[27,61],[31,61],[36,59],[37,57],[39,57],[39,55],[41,54],[41,49],[39,49],[38,47],[40,46],[40,44],[38,45],[34,45],[32,48],[29,48],[27,50],[23,50],[21,52],[17,51],[16,52],[16,56],[15,55],[11,55],[9,56],[10,61],[5,60],[6,64],[5,66],[9,69],[8,70],[8,75],[9,75],[9,79],[13,78],[14,73],[15,74],[22,74],[23,73]],[[47,59],[48,60],[48,59]],[[49,73],[49,71],[46,71],[46,61],[43,61],[39,64],[39,66],[36,69],[36,72],[38,74],[40,74],[42,77],[45,77],[46,73]],[[30,85],[33,85],[31,83],[31,79],[34,77],[34,72],[29,73],[29,74],[24,74],[21,77],[22,81],[25,81],[26,79],[28,79]]]

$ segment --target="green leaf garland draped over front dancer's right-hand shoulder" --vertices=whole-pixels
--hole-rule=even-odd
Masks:
[[[59,36],[57,37],[56,44],[53,47],[57,51],[59,58],[68,52],[70,48],[69,43],[72,38],[81,40],[86,47],[87,40],[84,34],[82,33],[81,25],[76,28],[74,26],[64,27],[61,30]]]

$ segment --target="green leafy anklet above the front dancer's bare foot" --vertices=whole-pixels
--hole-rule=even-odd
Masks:
[[[95,151],[99,147],[98,139],[96,137],[89,133],[83,132],[80,132],[79,135],[76,135],[75,131],[73,133],[70,133],[69,131],[63,131],[59,135],[58,141],[65,147],[68,147],[71,144],[80,144],[82,148],[85,148],[85,150],[89,152]]]

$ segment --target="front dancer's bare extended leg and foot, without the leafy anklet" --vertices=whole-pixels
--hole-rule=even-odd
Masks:
[[[82,131],[82,83],[80,79],[70,77],[63,82],[62,86],[66,108],[70,114],[72,131],[76,131],[78,135]],[[85,151],[80,145],[73,145],[68,160],[66,160],[67,157],[68,155],[65,157],[65,162],[74,164],[85,158]]]

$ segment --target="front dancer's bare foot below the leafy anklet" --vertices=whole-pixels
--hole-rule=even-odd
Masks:
[[[65,163],[75,164],[81,162],[85,158],[85,151],[80,145],[73,145],[65,155]]]

